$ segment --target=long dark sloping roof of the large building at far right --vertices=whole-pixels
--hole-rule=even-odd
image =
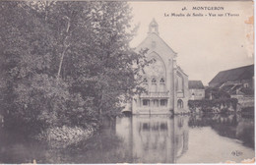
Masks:
[[[254,65],[244,66],[231,70],[222,71],[209,83],[226,83],[241,80],[250,80],[254,76]]]

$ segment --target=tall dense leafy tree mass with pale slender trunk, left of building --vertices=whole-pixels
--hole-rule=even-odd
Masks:
[[[136,92],[126,2],[1,2],[3,109],[10,121],[87,126]],[[138,77],[139,78],[139,77]],[[99,116],[98,116],[99,115]]]

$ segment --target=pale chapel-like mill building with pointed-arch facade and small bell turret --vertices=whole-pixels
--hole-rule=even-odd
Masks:
[[[160,38],[159,25],[153,20],[148,36],[136,48],[148,49],[143,86],[147,92],[134,97],[133,114],[169,114],[187,112],[188,76],[176,65],[177,54]]]

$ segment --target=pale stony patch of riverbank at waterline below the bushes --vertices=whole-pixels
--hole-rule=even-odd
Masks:
[[[80,127],[54,127],[48,128],[34,138],[49,143],[54,148],[65,148],[81,140],[91,138],[98,130],[97,127],[90,126],[87,129]]]

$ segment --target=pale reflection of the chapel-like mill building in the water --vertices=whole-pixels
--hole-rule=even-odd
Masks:
[[[140,115],[118,118],[117,123],[116,134],[127,144],[133,163],[175,163],[188,149],[188,116]]]

